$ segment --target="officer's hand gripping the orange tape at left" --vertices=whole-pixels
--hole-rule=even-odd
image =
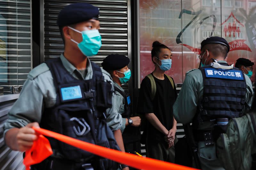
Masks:
[[[37,122],[29,123],[27,126],[20,128],[16,139],[18,144],[18,150],[24,152],[31,148],[33,142],[37,139],[36,132],[32,127],[38,127],[39,124]]]

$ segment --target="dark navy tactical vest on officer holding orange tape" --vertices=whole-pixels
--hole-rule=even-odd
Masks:
[[[60,58],[47,60],[56,87],[56,105],[44,110],[40,127],[85,142],[120,150],[113,132],[105,122],[106,109],[112,107],[112,85],[105,82],[99,66],[92,64],[93,76],[89,80],[74,78],[63,66]],[[74,162],[97,162],[96,169],[110,169],[116,165],[109,159],[48,138],[52,149],[64,159]]]

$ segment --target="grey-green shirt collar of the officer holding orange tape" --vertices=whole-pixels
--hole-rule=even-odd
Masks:
[[[71,75],[73,75],[75,70],[78,73],[80,73],[79,70],[77,70],[76,67],[67,60],[67,58],[63,55],[63,53],[60,55],[60,60],[63,63],[64,67],[68,70],[68,72]],[[87,65],[86,65],[85,70],[86,70],[87,74],[84,79],[91,79],[92,78],[92,64],[91,64],[91,61],[89,60],[89,58],[87,58]]]

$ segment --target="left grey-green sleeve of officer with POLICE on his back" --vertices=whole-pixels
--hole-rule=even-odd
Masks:
[[[173,105],[173,116],[177,122],[186,124],[196,115],[197,91],[195,79],[188,74]]]

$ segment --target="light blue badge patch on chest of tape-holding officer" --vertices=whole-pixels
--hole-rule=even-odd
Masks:
[[[63,101],[82,98],[82,93],[79,85],[61,88],[60,92]]]

